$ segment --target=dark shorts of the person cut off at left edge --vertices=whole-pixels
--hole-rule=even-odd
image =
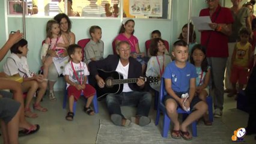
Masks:
[[[20,108],[20,103],[10,98],[0,98],[0,118],[5,124],[13,119]]]

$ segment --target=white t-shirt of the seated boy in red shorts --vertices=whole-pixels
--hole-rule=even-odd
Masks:
[[[80,62],[78,64],[72,62],[73,67],[75,69],[75,72],[74,72],[71,62],[72,61],[67,63],[62,74],[64,76],[69,76],[69,80],[71,80],[72,82],[78,83],[81,85],[81,81],[82,83],[84,82],[85,76],[90,75],[87,65],[84,62]],[[67,83],[67,88],[68,87],[69,87],[69,83]]]

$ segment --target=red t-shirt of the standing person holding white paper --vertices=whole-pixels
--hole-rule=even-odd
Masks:
[[[221,10],[219,11],[220,8]],[[218,11],[219,11],[218,17],[215,19]],[[210,16],[209,8],[205,8],[201,10],[199,16]],[[221,7],[220,5],[218,5],[218,8],[216,8],[216,11],[212,14],[211,20],[213,23],[230,24],[234,22],[230,9]],[[225,35],[218,31],[202,31],[201,44],[203,46],[206,46],[208,38],[209,38],[209,42],[206,47],[206,56],[217,57],[217,58],[227,58],[228,57],[228,35]]]

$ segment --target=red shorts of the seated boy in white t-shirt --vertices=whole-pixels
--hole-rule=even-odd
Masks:
[[[71,95],[74,96],[75,101],[79,99],[81,96],[82,90],[78,91],[75,86],[69,86],[67,88],[67,95],[70,97]],[[89,84],[85,84],[85,89],[83,89],[83,94],[85,98],[91,97],[96,93],[96,90],[93,88],[93,86]]]

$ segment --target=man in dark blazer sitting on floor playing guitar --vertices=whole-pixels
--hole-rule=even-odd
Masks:
[[[127,41],[120,41],[117,44],[117,54],[109,55],[107,58],[89,63],[90,74],[97,80],[100,88],[105,87],[105,81],[99,76],[97,68],[105,71],[118,71],[123,74],[124,79],[139,78],[142,67],[136,59],[130,57],[130,44]],[[115,125],[128,126],[130,120],[124,118],[120,106],[138,106],[136,116],[132,117],[132,122],[144,126],[150,123],[148,113],[151,105],[151,94],[142,92],[145,82],[138,79],[136,83],[124,83],[123,91],[120,94],[108,94],[106,104],[111,121]]]

